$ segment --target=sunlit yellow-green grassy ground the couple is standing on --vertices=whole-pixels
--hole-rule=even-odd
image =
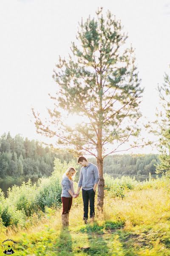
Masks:
[[[104,214],[96,210],[94,223],[83,224],[80,195],[73,201],[68,230],[62,230],[61,206],[45,207],[24,226],[5,227],[1,222],[1,241],[17,241],[15,256],[169,256],[169,180],[107,176],[105,181]]]

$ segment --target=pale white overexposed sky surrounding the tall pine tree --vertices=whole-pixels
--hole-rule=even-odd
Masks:
[[[135,48],[144,87],[143,118],[154,119],[159,102],[156,87],[163,83],[164,72],[170,74],[170,1],[1,0],[0,135],[10,131],[12,136],[46,140],[36,133],[31,108],[48,117],[47,108],[54,104],[48,93],[57,91],[52,75],[59,55],[68,56],[78,22],[95,17],[100,6],[116,15],[128,32],[127,44]],[[157,151],[145,147],[128,153]]]

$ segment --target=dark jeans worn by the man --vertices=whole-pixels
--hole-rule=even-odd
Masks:
[[[82,189],[82,200],[84,204],[84,218],[88,218],[88,202],[90,201],[90,218],[94,217],[94,189],[85,190]]]

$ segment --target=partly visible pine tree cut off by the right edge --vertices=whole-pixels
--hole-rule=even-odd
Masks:
[[[170,176],[170,76],[164,73],[164,83],[158,86],[161,109],[156,109],[156,129],[152,132],[159,137],[158,149],[160,163],[156,165],[156,173]]]

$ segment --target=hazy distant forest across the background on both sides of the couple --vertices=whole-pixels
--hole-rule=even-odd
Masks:
[[[50,147],[37,140],[28,140],[10,133],[0,137],[0,178],[11,177],[48,177],[53,172],[54,158],[67,163],[77,158],[67,151],[54,153]],[[89,162],[97,164],[96,159],[86,157]],[[155,164],[159,163],[156,154],[110,155],[104,159],[104,172],[110,175],[149,175],[155,174]],[[81,166],[79,167],[80,170]],[[79,175],[77,174],[76,180]]]

